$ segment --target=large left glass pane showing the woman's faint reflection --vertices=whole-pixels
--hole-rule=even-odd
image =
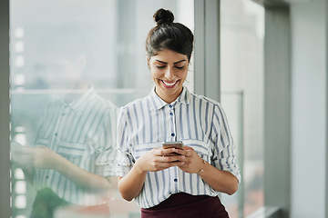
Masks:
[[[144,44],[160,7],[193,30],[189,0],[10,1],[13,217],[139,217],[116,187],[116,110],[154,85]]]

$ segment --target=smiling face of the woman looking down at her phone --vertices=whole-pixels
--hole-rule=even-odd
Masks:
[[[156,93],[166,103],[174,102],[182,92],[182,84],[188,74],[187,55],[165,49],[148,61]]]

